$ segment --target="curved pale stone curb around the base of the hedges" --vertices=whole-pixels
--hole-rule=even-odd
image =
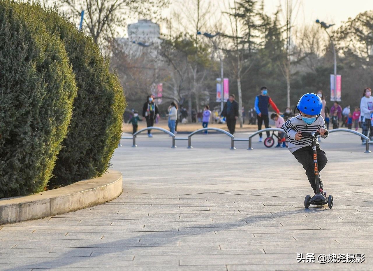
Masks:
[[[84,209],[117,198],[122,193],[122,173],[108,171],[102,177],[31,196],[0,199],[0,225]]]

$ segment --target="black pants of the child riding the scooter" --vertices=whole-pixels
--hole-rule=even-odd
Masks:
[[[319,177],[320,177],[320,171],[323,170],[327,163],[327,158],[325,152],[320,149],[320,145],[316,145],[317,150],[317,166],[319,167]],[[303,168],[305,169],[305,175],[307,175],[308,181],[311,184],[311,187],[313,189],[313,193],[316,193],[316,183],[315,183],[315,171],[314,171],[314,162],[313,162],[313,150],[312,146],[306,146],[303,148],[300,148],[299,150],[296,150],[292,153],[294,157],[303,165]],[[320,180],[320,188],[322,189],[323,182]]]

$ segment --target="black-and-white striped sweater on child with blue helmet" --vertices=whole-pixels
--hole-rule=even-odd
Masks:
[[[326,129],[325,121],[322,116],[319,116],[319,118],[317,118],[316,121],[312,124],[305,123],[302,120],[302,116],[300,114],[298,114],[295,117],[292,117],[291,119],[288,119],[282,125],[282,129],[285,131],[286,134],[288,134],[289,151],[293,153],[300,148],[312,145],[312,140],[310,137],[304,137],[301,138],[301,140],[295,140],[295,134],[297,134],[298,132],[316,132],[316,130],[320,128]],[[327,135],[322,136],[322,138],[326,137]],[[317,142],[317,138],[316,144],[319,145],[319,143]]]

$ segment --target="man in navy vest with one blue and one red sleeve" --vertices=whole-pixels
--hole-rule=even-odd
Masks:
[[[258,95],[255,99],[255,110],[257,112],[257,120],[258,120],[258,130],[261,130],[261,125],[264,121],[264,126],[266,128],[269,127],[269,118],[268,118],[268,107],[269,105],[276,111],[276,113],[280,113],[280,110],[277,108],[276,104],[272,101],[272,99],[267,95],[268,90],[267,87],[260,88],[260,95]],[[267,137],[269,137],[270,133],[267,131]],[[259,134],[259,142],[263,141],[262,133]]]

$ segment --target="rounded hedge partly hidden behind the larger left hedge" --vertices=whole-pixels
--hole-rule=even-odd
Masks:
[[[45,10],[37,4],[27,6],[27,10],[61,38],[79,88],[48,188],[101,176],[109,167],[122,133],[126,102],[120,81],[109,71],[109,59],[104,59],[93,39],[79,32],[57,10]]]

